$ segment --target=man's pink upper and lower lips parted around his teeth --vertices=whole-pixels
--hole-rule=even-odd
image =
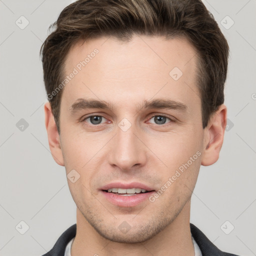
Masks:
[[[114,193],[108,193],[104,190],[108,188],[141,188],[145,189],[149,192],[139,193],[136,195],[119,195]],[[119,207],[134,207],[145,200],[149,201],[149,196],[152,195],[155,190],[150,188],[149,186],[139,183],[139,182],[131,182],[131,183],[120,183],[120,182],[112,182],[107,185],[104,185],[99,188],[102,196],[111,204],[117,205]]]

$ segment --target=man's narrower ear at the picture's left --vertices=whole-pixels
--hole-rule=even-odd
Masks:
[[[64,166],[63,155],[60,147],[60,137],[49,102],[44,104],[44,121],[48,134],[51,155],[57,164]]]

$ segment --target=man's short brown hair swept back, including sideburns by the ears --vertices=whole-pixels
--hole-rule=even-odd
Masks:
[[[202,125],[224,102],[229,47],[212,14],[201,0],[78,0],[66,6],[55,28],[40,48],[47,95],[63,80],[63,65],[78,40],[114,36],[129,40],[133,34],[184,36],[197,52],[197,83]],[[60,90],[48,97],[59,127]]]

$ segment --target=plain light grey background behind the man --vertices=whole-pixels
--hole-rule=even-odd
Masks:
[[[71,2],[0,0],[0,255],[42,255],[76,222],[64,167],[49,152],[39,59],[48,26]],[[252,256],[256,255],[256,0],[204,3],[230,46],[225,87],[228,127],[219,160],[201,166],[190,222],[221,250]]]

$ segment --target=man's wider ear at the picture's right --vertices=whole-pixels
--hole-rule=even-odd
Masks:
[[[204,128],[204,150],[201,164],[211,165],[217,161],[226,127],[226,106],[221,104],[212,114],[208,125]]]

